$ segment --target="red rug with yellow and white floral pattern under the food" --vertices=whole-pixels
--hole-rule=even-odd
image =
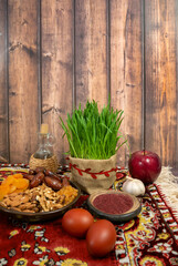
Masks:
[[[1,165],[0,178],[25,168],[27,165]],[[115,187],[122,186],[125,172],[122,173]],[[86,195],[81,196],[76,206],[87,207],[86,198]],[[96,259],[88,255],[85,239],[76,239],[63,232],[61,218],[28,224],[0,213],[0,266],[178,265],[177,213],[168,204],[160,185],[147,187],[138,217],[115,227],[115,250]]]

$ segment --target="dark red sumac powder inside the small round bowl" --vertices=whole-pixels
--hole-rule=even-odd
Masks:
[[[123,214],[133,206],[133,198],[125,194],[101,194],[93,201],[95,208],[107,214]]]

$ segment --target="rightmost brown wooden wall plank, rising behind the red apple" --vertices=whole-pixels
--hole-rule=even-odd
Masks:
[[[146,1],[146,149],[163,165],[177,154],[176,0]]]

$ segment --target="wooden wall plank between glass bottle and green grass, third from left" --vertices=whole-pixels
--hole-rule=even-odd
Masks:
[[[73,103],[73,1],[42,1],[42,121],[55,136],[54,152],[62,163],[69,151],[62,139]]]

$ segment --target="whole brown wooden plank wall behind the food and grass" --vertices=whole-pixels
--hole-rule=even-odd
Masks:
[[[130,152],[178,166],[177,20],[177,0],[0,0],[0,157],[28,163],[45,122],[64,163],[59,116],[111,95]]]

